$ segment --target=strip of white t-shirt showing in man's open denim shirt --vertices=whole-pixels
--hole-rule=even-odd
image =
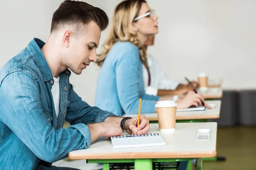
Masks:
[[[54,84],[52,85],[52,98],[54,102],[54,108],[56,112],[56,116],[58,118],[59,104],[60,104],[60,77],[53,77]]]

